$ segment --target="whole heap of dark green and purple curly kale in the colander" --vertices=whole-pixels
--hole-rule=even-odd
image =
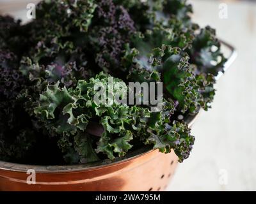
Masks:
[[[143,145],[186,159],[195,139],[177,115],[209,108],[226,61],[191,12],[182,0],[45,0],[28,24],[0,17],[0,159],[86,163]],[[163,82],[163,110],[96,103],[109,77]]]

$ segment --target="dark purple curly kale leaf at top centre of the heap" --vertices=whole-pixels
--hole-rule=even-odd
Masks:
[[[93,50],[95,63],[102,70],[117,75],[125,43],[135,31],[129,13],[112,0],[99,0],[89,31],[89,51]]]

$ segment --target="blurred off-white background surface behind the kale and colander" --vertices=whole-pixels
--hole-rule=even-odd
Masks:
[[[0,0],[0,13],[26,20],[33,0]],[[195,146],[167,191],[256,191],[256,1],[189,0],[193,21],[216,28],[237,59],[193,126]],[[224,13],[223,13],[224,12]]]

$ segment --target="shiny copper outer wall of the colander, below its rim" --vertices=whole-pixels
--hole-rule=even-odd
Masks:
[[[120,163],[78,171],[36,173],[27,184],[26,172],[0,170],[1,191],[161,191],[177,166],[174,152],[147,152]]]

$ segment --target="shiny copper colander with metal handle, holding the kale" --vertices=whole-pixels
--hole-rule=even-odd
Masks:
[[[226,71],[237,54],[234,47],[221,43],[231,51]],[[216,79],[220,77],[221,73]],[[196,116],[186,119],[189,127]],[[31,166],[0,161],[0,191],[163,191],[177,163],[173,151],[163,154],[145,148],[122,159],[74,166]],[[35,171],[35,184],[28,184],[28,170]]]

